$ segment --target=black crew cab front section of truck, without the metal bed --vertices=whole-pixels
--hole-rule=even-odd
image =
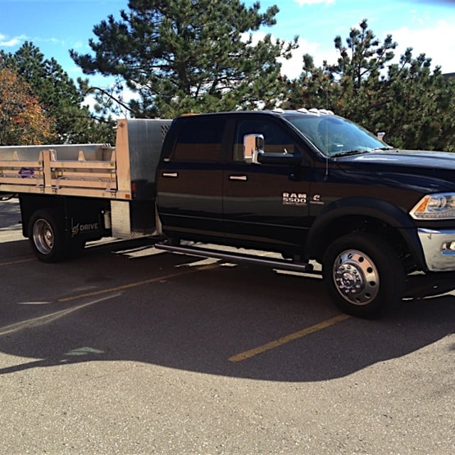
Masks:
[[[157,247],[302,272],[316,262],[343,311],[373,316],[409,274],[455,270],[454,171],[453,154],[395,149],[321,109],[179,117],[156,169]]]

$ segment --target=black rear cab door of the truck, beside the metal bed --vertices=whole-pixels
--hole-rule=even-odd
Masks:
[[[219,236],[223,232],[221,151],[225,119],[178,119],[176,139],[156,175],[163,230],[171,236]]]

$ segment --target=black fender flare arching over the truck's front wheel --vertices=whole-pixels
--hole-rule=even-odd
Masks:
[[[378,235],[398,253],[398,256],[405,264],[405,269],[413,269],[415,267],[410,249],[400,231],[382,220],[363,215],[346,215],[336,218],[336,220],[332,220],[331,223],[326,225],[323,231],[319,232],[319,240],[314,250],[315,259],[321,262],[328,245],[333,240],[352,232],[369,232],[370,234]]]

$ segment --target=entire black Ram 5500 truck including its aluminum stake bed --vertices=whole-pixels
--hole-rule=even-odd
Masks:
[[[171,252],[322,273],[355,316],[400,299],[414,272],[455,270],[455,156],[395,149],[325,110],[120,120],[115,147],[1,147],[0,191],[18,194],[45,262],[159,235]]]

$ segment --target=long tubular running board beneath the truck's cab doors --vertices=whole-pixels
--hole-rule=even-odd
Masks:
[[[168,242],[155,243],[155,248],[170,252],[183,253],[184,255],[197,257],[215,257],[232,262],[249,262],[252,264],[264,265],[274,269],[290,270],[292,272],[302,272],[311,274],[321,274],[313,269],[313,265],[308,262],[291,262],[286,259],[272,259],[254,255],[243,255],[236,252],[222,252],[220,250],[211,250],[210,248],[200,248],[195,246],[172,245]]]

